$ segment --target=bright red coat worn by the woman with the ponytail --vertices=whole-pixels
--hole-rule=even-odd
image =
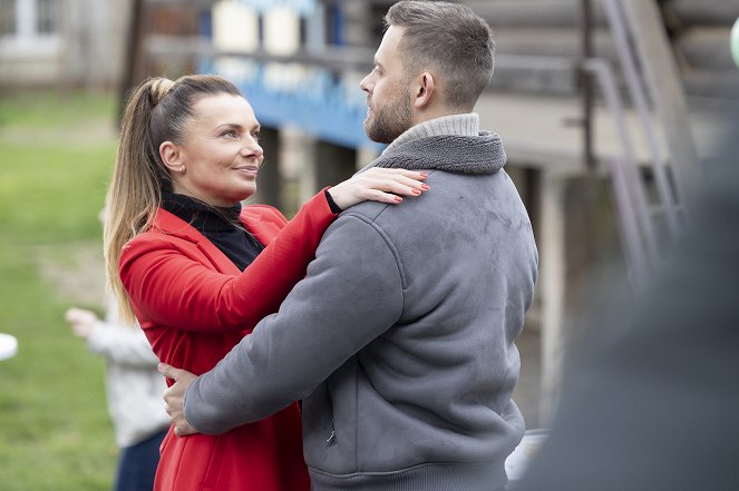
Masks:
[[[211,370],[305,276],[333,220],[323,193],[291,222],[269,206],[241,220],[269,244],[243,272],[205,236],[159,209],[154,226],[124,247],[120,278],[161,361],[195,374]],[[169,382],[169,381],[168,381]],[[162,444],[156,490],[302,491],[310,488],[296,404],[218,436],[175,436]]]

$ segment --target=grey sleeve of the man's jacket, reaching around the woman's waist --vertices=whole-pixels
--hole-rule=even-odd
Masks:
[[[218,434],[303,399],[391,327],[402,306],[397,251],[377,225],[344,213],[280,312],[189,386],[187,420]]]

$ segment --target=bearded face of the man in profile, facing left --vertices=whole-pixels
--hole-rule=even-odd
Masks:
[[[390,26],[375,55],[375,69],[360,82],[367,92],[364,132],[372,140],[390,144],[412,126],[409,84],[400,60],[403,28]]]

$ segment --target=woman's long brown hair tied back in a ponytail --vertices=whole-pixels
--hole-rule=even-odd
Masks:
[[[181,144],[195,102],[218,94],[243,97],[223,77],[191,75],[175,81],[162,77],[146,80],[134,89],[126,105],[103,234],[108,284],[126,321],[135,316],[118,274],[120,253],[128,240],[152,226],[162,192],[172,190],[159,146],[164,141]]]

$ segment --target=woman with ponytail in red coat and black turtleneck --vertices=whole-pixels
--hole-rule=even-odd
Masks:
[[[427,188],[422,174],[375,169],[322,190],[291,222],[268,206],[242,209],[264,158],[259,129],[237,88],[216,76],[149,80],[124,116],[107,197],[108,274],[159,360],[196,374],[278,310],[337,212]],[[308,490],[296,404],[220,436],[171,429],[155,489]]]

